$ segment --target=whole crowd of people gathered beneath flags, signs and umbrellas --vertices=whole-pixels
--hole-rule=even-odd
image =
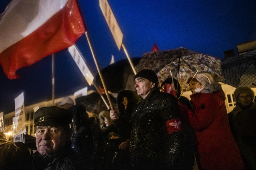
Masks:
[[[191,101],[176,79],[161,85],[152,70],[135,77],[136,91],[118,93],[114,108],[95,117],[63,98],[34,113],[36,151],[1,134],[0,169],[255,170],[256,104],[248,87],[225,94],[207,73],[187,81]],[[174,85],[174,86],[173,86]]]

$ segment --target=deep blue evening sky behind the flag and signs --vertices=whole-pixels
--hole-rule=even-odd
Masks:
[[[10,1],[0,1],[0,13]],[[256,39],[254,1],[208,0],[108,0],[124,35],[130,57],[141,57],[156,43],[159,50],[185,47],[223,59],[223,51],[236,44]],[[103,17],[98,0],[78,0],[100,68],[126,58],[119,51]],[[11,22],[11,21],[10,21]],[[1,30],[0,30],[1,31]],[[11,33],[10,33],[11,36]],[[82,35],[76,42],[93,74],[97,69]],[[73,94],[88,86],[67,50],[56,53],[55,96]],[[0,67],[0,112],[14,111],[14,98],[24,92],[25,105],[51,100],[51,57],[17,71],[22,79],[9,80]]]

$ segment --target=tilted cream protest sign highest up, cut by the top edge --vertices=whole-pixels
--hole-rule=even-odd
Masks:
[[[107,0],[99,0],[100,9],[104,15],[104,18],[106,19],[108,26],[110,28],[110,31],[114,37],[115,43],[120,50],[122,41],[123,41],[123,33],[115,19],[114,14],[112,13],[112,10],[109,6],[109,3]]]

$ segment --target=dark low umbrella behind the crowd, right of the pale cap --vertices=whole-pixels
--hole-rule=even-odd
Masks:
[[[107,104],[109,105],[109,101],[107,99],[106,94],[102,94],[102,96],[105,99],[105,101],[107,102]],[[112,104],[115,107],[116,98],[113,97],[112,95],[109,95],[109,96],[110,96],[110,100],[111,100]],[[93,92],[86,96],[79,97],[79,98],[75,99],[75,101],[76,101],[76,105],[81,104],[84,106],[84,108],[86,109],[87,112],[95,113],[97,115],[103,110],[108,110],[107,106],[101,99],[100,94],[96,93],[96,92]]]

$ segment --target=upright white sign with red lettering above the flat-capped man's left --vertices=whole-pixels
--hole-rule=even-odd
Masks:
[[[17,98],[14,99],[15,102],[15,117],[17,123],[16,134],[22,134],[26,132],[25,127],[25,109],[24,109],[24,93],[22,92]]]

